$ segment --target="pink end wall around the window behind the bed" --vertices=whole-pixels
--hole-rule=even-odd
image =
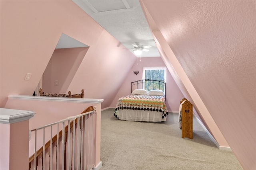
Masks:
[[[115,99],[113,100],[111,107],[116,107],[117,100],[122,97],[131,94],[131,82],[142,79],[143,67],[150,66],[166,66],[161,57],[145,57],[138,58],[130,70],[126,80],[119,89]],[[134,74],[134,71],[139,71],[139,74]],[[170,72],[167,70],[167,81],[166,81],[166,105],[169,112],[178,113],[180,100],[184,98],[182,92],[178,88],[176,82],[172,78]]]

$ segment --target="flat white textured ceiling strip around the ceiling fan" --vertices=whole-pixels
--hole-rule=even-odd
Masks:
[[[137,57],[160,57],[156,43],[138,0],[72,0],[84,12],[133,52],[134,46],[151,45]]]

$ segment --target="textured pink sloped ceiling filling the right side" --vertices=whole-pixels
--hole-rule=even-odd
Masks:
[[[141,2],[243,168],[255,169],[256,1]]]

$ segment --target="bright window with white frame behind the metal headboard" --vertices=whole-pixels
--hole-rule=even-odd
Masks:
[[[142,79],[160,80],[166,82],[166,67],[143,67]],[[160,89],[164,92],[164,86],[156,86],[153,82],[145,82],[144,89]]]

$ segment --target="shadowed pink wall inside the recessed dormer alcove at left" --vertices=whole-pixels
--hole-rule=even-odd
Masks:
[[[43,74],[43,91],[68,94],[68,86],[88,49],[89,47],[55,49]],[[58,80],[58,86],[55,85],[55,80]],[[72,94],[79,94],[81,90]]]

